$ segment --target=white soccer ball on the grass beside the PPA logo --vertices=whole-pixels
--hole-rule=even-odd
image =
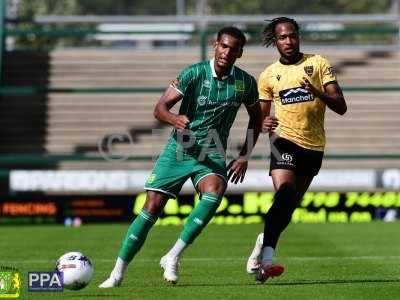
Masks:
[[[63,272],[66,289],[80,290],[89,284],[94,267],[90,259],[81,252],[68,252],[57,260],[56,270]]]

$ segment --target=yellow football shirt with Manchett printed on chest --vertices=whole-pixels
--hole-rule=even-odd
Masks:
[[[324,151],[325,103],[301,87],[303,76],[321,91],[327,83],[336,82],[335,71],[326,58],[304,54],[295,64],[285,65],[278,60],[268,66],[258,80],[259,97],[274,102],[278,136],[306,149]]]

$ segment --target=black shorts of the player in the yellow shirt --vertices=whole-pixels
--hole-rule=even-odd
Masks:
[[[315,176],[321,169],[323,151],[314,151],[284,139],[272,138],[269,174],[275,169],[293,170],[296,175]]]

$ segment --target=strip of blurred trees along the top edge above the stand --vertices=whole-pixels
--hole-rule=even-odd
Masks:
[[[196,12],[198,0],[24,0],[20,16],[32,15],[171,15],[183,5],[186,14]],[[386,13],[391,0],[207,0],[207,12],[215,14],[354,14]]]

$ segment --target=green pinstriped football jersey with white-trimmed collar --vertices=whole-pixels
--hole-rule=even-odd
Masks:
[[[185,68],[171,86],[183,95],[179,114],[189,118],[190,138],[195,138],[194,146],[200,146],[194,147],[197,149],[222,146],[225,151],[240,105],[251,106],[258,101],[253,76],[233,66],[230,74],[219,80],[214,59]],[[175,129],[172,135],[177,138]]]

